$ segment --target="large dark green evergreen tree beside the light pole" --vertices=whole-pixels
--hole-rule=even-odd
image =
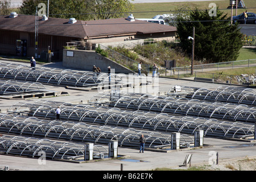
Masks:
[[[208,63],[234,61],[242,47],[242,33],[238,24],[230,24],[229,18],[217,9],[216,16],[209,16],[208,10],[191,11],[189,21],[177,23],[177,34],[181,47],[192,52],[192,36],[195,27],[195,58]]]

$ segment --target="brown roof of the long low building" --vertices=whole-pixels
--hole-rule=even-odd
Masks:
[[[125,18],[89,21],[77,20],[74,24],[68,24],[69,19],[51,17],[49,17],[48,20],[41,19],[42,17],[39,17],[39,34],[68,36],[73,38],[176,31],[176,27],[142,20],[130,22]],[[0,29],[35,32],[35,16],[18,15],[16,18],[9,18],[9,15],[0,16]]]

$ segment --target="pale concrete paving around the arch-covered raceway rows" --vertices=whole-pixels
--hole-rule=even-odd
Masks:
[[[3,60],[0,60],[1,62]],[[26,64],[26,63],[21,63]],[[60,63],[52,63],[47,65],[40,65],[39,67],[56,67],[61,68]],[[172,86],[184,85],[199,88],[216,89],[220,84],[208,84],[204,82],[174,80],[170,78],[159,78],[159,90],[161,92],[168,92]],[[86,103],[90,98],[98,94],[97,91],[85,92],[82,90],[66,89],[59,86],[47,86],[52,90],[65,90],[69,96],[41,98],[40,100],[51,100],[70,102],[73,104],[84,102]],[[0,109],[5,113],[11,105],[16,102],[35,102],[38,98],[30,100],[3,100],[0,99]],[[205,147],[196,150],[175,150],[171,152],[153,152],[145,151],[143,154],[139,153],[138,148],[118,148],[118,155],[126,156],[126,159],[132,160],[100,160],[92,163],[69,163],[54,160],[47,160],[46,164],[39,164],[38,159],[23,158],[17,156],[0,155],[0,168],[9,166],[10,169],[18,169],[23,171],[119,171],[121,164],[123,170],[127,171],[141,171],[150,170],[161,167],[178,167],[183,164],[187,154],[192,155],[192,164],[208,164],[211,157],[210,151],[219,152],[220,162],[226,159],[233,160],[237,158],[255,158],[256,157],[256,144],[247,143],[234,140],[222,140],[213,138],[204,138]]]

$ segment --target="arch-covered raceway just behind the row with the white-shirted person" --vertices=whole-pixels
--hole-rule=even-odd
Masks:
[[[256,120],[256,107],[245,104],[201,101],[182,97],[149,96],[148,94],[147,96],[143,96],[143,94],[123,94],[118,96],[104,94],[102,97],[93,98],[91,103],[108,107],[192,115],[195,117],[216,118],[226,121],[254,123]],[[101,100],[105,100],[105,102],[97,102]],[[109,101],[107,102],[106,100]]]

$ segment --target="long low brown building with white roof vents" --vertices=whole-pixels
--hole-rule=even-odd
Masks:
[[[153,38],[174,40],[176,27],[128,18],[76,20],[47,16],[0,16],[0,53],[18,56],[43,56],[48,49],[62,59],[68,42],[116,43]],[[38,36],[35,36],[38,35]]]

